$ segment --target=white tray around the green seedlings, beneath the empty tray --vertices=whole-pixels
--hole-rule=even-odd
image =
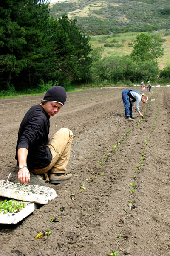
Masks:
[[[17,201],[18,202],[18,201]],[[20,201],[21,202],[21,201]],[[23,202],[23,201],[22,201]],[[6,214],[0,213],[0,223],[1,224],[16,224],[19,221],[22,221],[29,214],[34,212],[34,209],[37,208],[37,204],[23,202],[25,207],[19,212],[7,212]]]

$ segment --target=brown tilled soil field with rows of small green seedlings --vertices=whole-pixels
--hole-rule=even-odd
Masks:
[[[73,131],[68,164],[73,178],[49,185],[57,197],[23,221],[0,225],[0,255],[170,256],[170,87],[146,92],[155,101],[140,103],[144,118],[134,113],[133,122],[124,118],[122,90],[68,93],[50,119],[49,135],[62,127]],[[11,172],[9,181],[18,182],[18,128],[41,99],[0,100],[1,180]],[[61,221],[51,222],[54,217]],[[51,235],[35,239],[42,230]]]

